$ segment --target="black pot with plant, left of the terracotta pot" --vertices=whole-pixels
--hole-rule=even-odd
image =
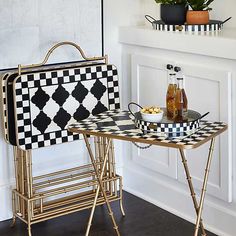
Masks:
[[[161,20],[165,24],[182,25],[186,21],[187,0],[155,0],[161,4]]]

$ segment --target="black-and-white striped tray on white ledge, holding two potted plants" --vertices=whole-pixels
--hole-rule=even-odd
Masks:
[[[231,19],[228,18],[225,21],[210,20],[209,24],[204,25],[168,25],[162,20],[156,20],[152,16],[146,15],[145,18],[152,24],[153,29],[159,31],[189,31],[189,32],[214,32],[220,31],[223,25]],[[151,20],[150,20],[151,19]]]

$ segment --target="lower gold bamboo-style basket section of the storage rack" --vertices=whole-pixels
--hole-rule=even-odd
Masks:
[[[106,195],[110,202],[122,199],[122,177],[116,175],[113,178],[104,179],[103,183],[104,186],[107,186],[105,188]],[[13,207],[20,205],[24,206],[24,208],[20,208],[21,210],[14,209],[14,215],[26,224],[29,222],[30,224],[35,224],[55,217],[92,208],[97,184],[95,183],[91,188],[93,189],[49,201],[46,201],[45,196],[40,198],[40,195],[38,195],[27,198],[18,191],[13,190],[13,201],[15,201],[13,202]],[[100,192],[96,206],[103,205],[104,203],[104,197]]]

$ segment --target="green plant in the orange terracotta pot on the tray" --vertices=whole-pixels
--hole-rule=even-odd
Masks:
[[[187,12],[187,23],[203,25],[209,23],[209,11],[212,10],[209,5],[214,0],[188,0],[188,5],[192,10]]]

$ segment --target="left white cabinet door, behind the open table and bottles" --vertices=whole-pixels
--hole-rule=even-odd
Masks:
[[[144,55],[132,55],[132,101],[141,106],[165,107],[168,74],[166,61]],[[137,107],[132,106],[134,111]],[[140,150],[133,146],[132,161],[138,165],[172,178],[177,178],[176,150],[152,146]]]

